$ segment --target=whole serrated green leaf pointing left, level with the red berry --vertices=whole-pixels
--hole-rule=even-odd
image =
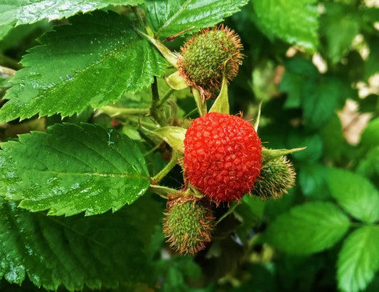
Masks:
[[[0,193],[48,215],[95,215],[149,188],[144,156],[127,136],[91,124],[55,124],[1,144]]]

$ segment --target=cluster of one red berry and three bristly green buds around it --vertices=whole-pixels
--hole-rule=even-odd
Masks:
[[[164,233],[179,254],[196,254],[210,242],[217,225],[213,209],[220,203],[252,193],[263,200],[277,199],[294,184],[292,164],[283,154],[279,151],[265,156],[267,149],[262,149],[255,127],[242,117],[228,114],[225,84],[237,75],[241,49],[234,31],[219,26],[190,38],[177,58],[178,72],[173,75],[198,90],[200,102],[204,104],[220,90],[210,112],[199,108],[203,115],[192,121],[183,144],[177,147],[183,151],[186,187],[169,196]]]

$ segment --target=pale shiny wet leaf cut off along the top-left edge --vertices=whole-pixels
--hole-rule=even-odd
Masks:
[[[102,9],[108,5],[137,5],[142,0],[2,0],[0,4],[0,26],[4,24],[34,23],[44,18],[49,21],[73,16],[82,11]]]

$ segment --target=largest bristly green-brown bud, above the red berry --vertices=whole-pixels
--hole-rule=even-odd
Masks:
[[[223,82],[223,73],[228,82],[237,75],[241,49],[240,37],[230,28],[221,25],[203,29],[181,48],[178,71],[203,100],[213,98]]]

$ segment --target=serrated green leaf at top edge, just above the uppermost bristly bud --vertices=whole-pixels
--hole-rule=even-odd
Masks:
[[[156,35],[166,37],[191,27],[198,31],[215,26],[245,4],[247,0],[147,0],[146,14]]]

